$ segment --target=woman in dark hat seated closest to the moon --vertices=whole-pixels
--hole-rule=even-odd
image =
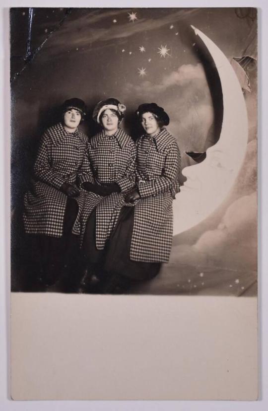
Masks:
[[[136,115],[145,134],[136,141],[136,187],[126,196],[133,207],[122,208],[107,250],[102,285],[107,293],[124,292],[154,277],[168,262],[172,245],[180,151],[164,127],[169,117],[162,107],[141,104]]]

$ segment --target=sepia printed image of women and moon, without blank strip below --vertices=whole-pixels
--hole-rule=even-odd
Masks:
[[[12,8],[11,289],[256,295],[257,9]]]

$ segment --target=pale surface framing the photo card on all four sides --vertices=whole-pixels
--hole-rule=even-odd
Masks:
[[[159,0],[117,0],[116,3],[111,0],[102,0],[101,4],[103,7],[162,7],[163,3]],[[9,233],[8,226],[8,206],[9,201],[6,200],[9,195],[8,183],[9,183],[9,167],[7,161],[4,160],[6,155],[8,155],[8,141],[9,133],[7,130],[8,124],[8,110],[9,107],[9,95],[8,95],[8,32],[7,32],[7,7],[22,7],[22,6],[46,6],[46,7],[99,7],[99,1],[81,1],[77,0],[75,2],[70,0],[65,1],[55,1],[48,0],[44,4],[43,1],[4,1],[2,7],[0,8],[1,16],[0,21],[0,87],[2,91],[2,96],[0,99],[0,113],[4,117],[0,123],[0,209],[1,209],[1,238],[0,238],[0,261],[1,261],[1,271],[0,273],[0,409],[1,410],[266,410],[268,409],[268,324],[267,318],[265,318],[266,312],[268,312],[268,280],[267,280],[267,268],[268,268],[268,253],[267,253],[267,241],[266,233],[268,232],[268,213],[267,213],[267,200],[268,200],[268,186],[265,184],[265,176],[268,174],[268,87],[267,87],[267,39],[268,39],[268,3],[267,1],[171,1],[166,0],[165,7],[259,7],[259,38],[260,38],[260,57],[259,57],[259,187],[261,195],[259,196],[259,210],[261,212],[259,217],[259,227],[260,227],[260,261],[259,261],[259,301],[261,304],[261,345],[262,351],[260,355],[260,360],[262,363],[261,367],[261,397],[258,402],[200,402],[200,401],[180,401],[180,402],[12,402],[8,400],[8,346],[9,346],[9,327],[8,327],[8,288],[9,288],[9,261],[8,261],[8,246],[9,243]],[[265,111],[266,109],[266,111]],[[263,114],[263,115],[262,115]],[[6,147],[7,146],[7,147]],[[7,153],[6,153],[7,150]],[[4,155],[5,154],[5,155]],[[5,169],[5,174],[4,174]],[[5,227],[5,228],[4,228]]]

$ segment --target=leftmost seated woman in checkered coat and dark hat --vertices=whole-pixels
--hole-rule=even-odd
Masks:
[[[85,155],[88,138],[78,129],[86,115],[85,103],[66,100],[62,121],[44,133],[34,165],[33,187],[24,198],[24,228],[31,257],[39,266],[37,276],[54,284],[67,265],[74,236],[79,186],[91,172]]]

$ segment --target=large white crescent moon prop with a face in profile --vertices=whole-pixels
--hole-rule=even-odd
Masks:
[[[223,120],[220,137],[206,150],[205,160],[183,169],[187,181],[173,201],[173,235],[199,224],[220,206],[234,185],[248,141],[247,110],[238,78],[222,51],[200,30],[191,27],[206,46],[218,71]]]

